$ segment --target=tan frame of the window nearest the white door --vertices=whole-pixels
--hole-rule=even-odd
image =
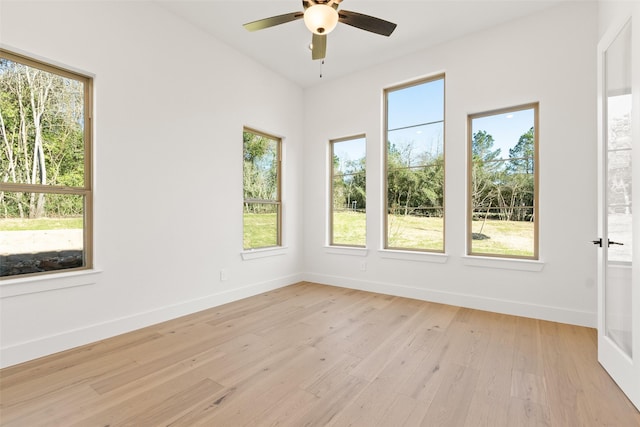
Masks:
[[[483,117],[489,116],[497,116],[503,115],[513,112],[525,111],[525,110],[533,110],[533,255],[505,255],[498,253],[490,253],[490,252],[474,252],[473,251],[473,120]],[[466,255],[473,258],[492,258],[492,259],[503,259],[503,260],[529,260],[529,261],[539,261],[540,260],[540,239],[539,239],[539,229],[540,229],[540,215],[539,215],[539,197],[540,197],[540,156],[539,156],[539,134],[540,134],[540,126],[539,126],[539,116],[540,116],[540,103],[539,102],[530,102],[526,104],[520,104],[512,107],[504,107],[498,108],[495,110],[482,111],[479,113],[473,113],[467,115],[467,230],[466,230]],[[508,158],[504,158],[499,160],[501,162],[508,162]]]

